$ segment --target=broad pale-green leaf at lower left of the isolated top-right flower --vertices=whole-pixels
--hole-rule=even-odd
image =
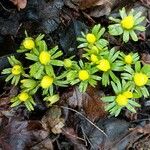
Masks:
[[[123,29],[120,24],[114,24],[108,26],[110,35],[117,36],[123,33]]]

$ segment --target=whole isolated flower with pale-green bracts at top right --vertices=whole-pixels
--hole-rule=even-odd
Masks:
[[[123,34],[123,41],[128,42],[129,38],[138,41],[135,31],[145,31],[145,27],[140,25],[145,17],[141,17],[142,12],[136,13],[133,9],[127,14],[125,8],[120,10],[121,19],[110,17],[116,24],[109,25],[109,33],[113,36]]]

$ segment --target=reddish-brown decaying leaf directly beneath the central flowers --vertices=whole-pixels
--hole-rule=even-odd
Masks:
[[[96,88],[88,87],[85,93],[81,93],[78,87],[74,87],[71,91],[64,93],[61,100],[66,101],[72,108],[83,108],[86,116],[94,121],[106,116],[104,103],[100,100],[102,95],[102,91]]]

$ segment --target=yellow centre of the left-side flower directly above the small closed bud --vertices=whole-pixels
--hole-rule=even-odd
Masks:
[[[53,84],[54,79],[50,76],[44,76],[41,80],[41,87],[43,89],[49,88]]]

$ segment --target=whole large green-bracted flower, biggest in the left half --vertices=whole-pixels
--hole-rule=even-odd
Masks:
[[[57,46],[48,50],[45,42],[41,42],[38,49],[34,49],[32,53],[26,53],[25,55],[26,59],[35,61],[30,66],[30,75],[36,79],[41,78],[44,71],[51,72],[53,75],[53,65],[63,66],[63,61],[56,60],[62,55],[62,52],[58,51]]]

